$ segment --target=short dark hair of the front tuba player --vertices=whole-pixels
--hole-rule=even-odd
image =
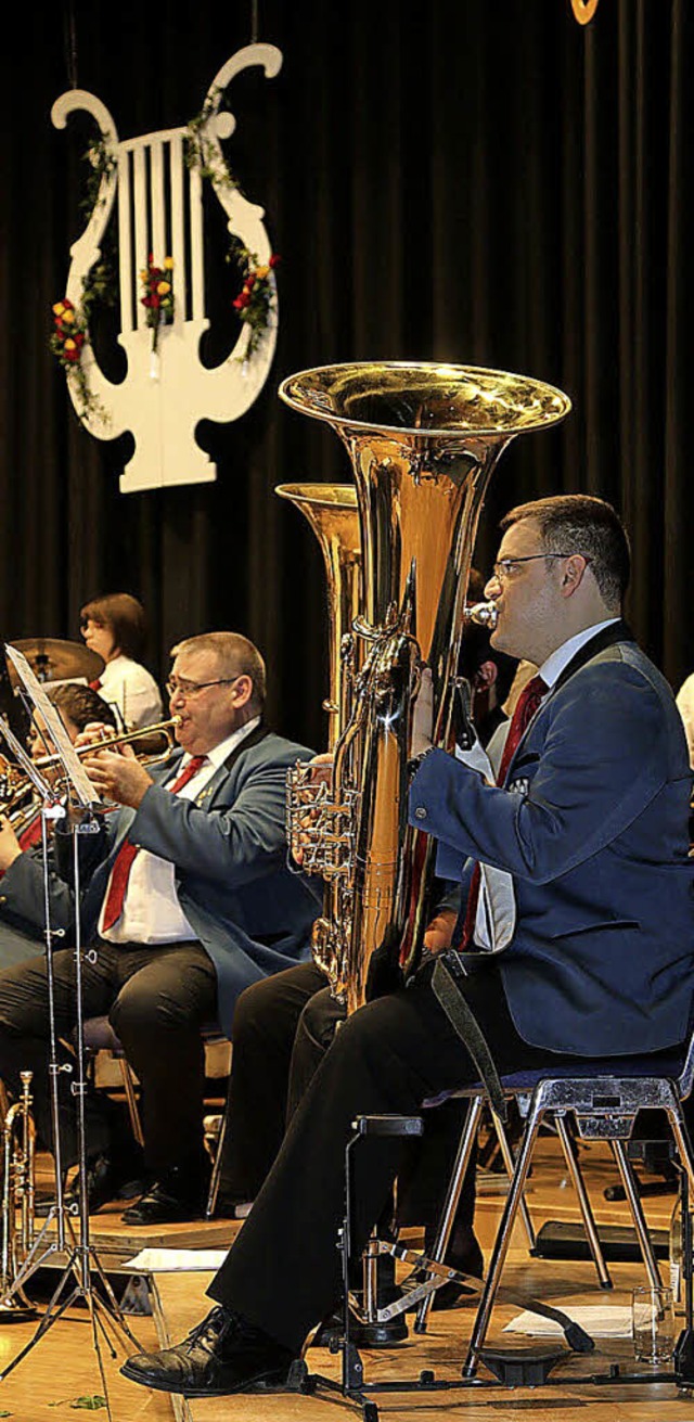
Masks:
[[[533,519],[548,553],[583,553],[609,607],[621,606],[631,574],[627,530],[612,503],[590,493],[559,493],[519,503],[501,520],[502,533]]]

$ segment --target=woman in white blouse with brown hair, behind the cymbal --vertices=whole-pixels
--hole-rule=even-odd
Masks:
[[[162,720],[162,698],[156,681],[138,661],[145,643],[145,610],[129,593],[108,593],[85,603],[82,637],[105,667],[94,688],[118,712],[128,729]]]

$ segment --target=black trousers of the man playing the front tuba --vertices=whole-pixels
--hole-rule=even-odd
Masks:
[[[496,968],[468,980],[466,997],[499,1069],[566,1064],[518,1035]],[[209,1294],[299,1352],[340,1295],[337,1234],[344,1216],[344,1150],[357,1115],[418,1113],[427,1098],[478,1079],[438,1005],[428,973],[350,1017],[313,1076],[255,1207]],[[354,1247],[381,1217],[401,1165],[390,1140],[360,1142]]]

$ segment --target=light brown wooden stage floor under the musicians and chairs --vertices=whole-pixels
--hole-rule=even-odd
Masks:
[[[616,1172],[602,1145],[582,1150],[582,1167],[593,1200],[596,1216],[602,1224],[627,1224],[624,1204],[609,1204],[603,1199],[603,1187],[616,1182]],[[478,1202],[476,1229],[485,1250],[493,1237],[499,1212],[499,1190],[484,1190]],[[542,1138],[536,1163],[529,1183],[528,1203],[536,1229],[543,1220],[576,1220],[577,1210],[570,1183],[560,1158],[557,1142]],[[658,1230],[667,1229],[674,1204],[673,1194],[644,1200],[648,1223]],[[91,1237],[100,1260],[110,1271],[117,1261],[132,1257],[142,1247],[166,1246],[176,1249],[222,1249],[243,1226],[229,1221],[210,1224],[178,1226],[159,1230],[156,1237],[146,1230],[129,1231],[119,1221],[118,1210],[110,1207],[94,1216]],[[667,1261],[661,1266],[667,1274]],[[614,1288],[597,1288],[594,1270],[589,1263],[530,1260],[525,1237],[518,1231],[513,1249],[505,1268],[503,1280],[520,1294],[535,1294],[546,1303],[560,1307],[573,1305],[627,1305],[630,1290],[643,1283],[643,1268],[637,1263],[610,1264]],[[40,1277],[44,1285],[43,1271]],[[112,1274],[117,1281],[118,1274]],[[124,1280],[127,1276],[122,1276]],[[208,1308],[205,1288],[209,1274],[156,1273],[149,1280],[155,1303],[155,1314],[128,1315],[128,1324],[141,1345],[154,1349],[166,1337],[179,1341],[181,1337],[203,1315]],[[666,1278],[667,1283],[667,1278]],[[28,1290],[31,1293],[31,1287]],[[44,1293],[44,1287],[41,1287]],[[118,1291],[118,1288],[117,1288]],[[38,1303],[38,1295],[37,1295]],[[161,1310],[161,1311],[159,1311]],[[506,1304],[495,1310],[489,1342],[503,1342],[511,1347],[513,1340],[502,1334],[505,1322],[518,1307]],[[474,1305],[464,1305],[448,1313],[434,1314],[424,1338],[411,1335],[405,1344],[388,1351],[364,1351],[364,1375],[367,1381],[414,1378],[422,1368],[434,1368],[437,1376],[459,1376],[465,1355],[465,1344],[474,1318]],[[0,1364],[16,1357],[26,1341],[33,1338],[37,1324],[3,1324],[0,1327]],[[523,1340],[518,1338],[523,1345]],[[528,1345],[532,1340],[525,1340]],[[300,1394],[243,1395],[236,1398],[209,1398],[185,1402],[168,1394],[155,1394],[138,1388],[119,1376],[118,1368],[131,1345],[118,1342],[115,1359],[108,1358],[102,1347],[107,1372],[107,1388],[111,1416],[117,1422],[344,1422],[353,1416],[361,1418],[361,1411],[338,1394],[329,1395],[319,1389],[311,1396]],[[606,1374],[612,1362],[631,1368],[631,1344],[629,1340],[597,1340],[596,1351],[580,1358],[569,1357],[567,1365],[553,1374],[555,1384],[539,1389],[484,1388],[449,1391],[435,1395],[424,1392],[375,1394],[378,1415],[384,1422],[432,1422],[434,1415],[451,1422],[518,1422],[525,1413],[533,1422],[694,1422],[694,1394],[683,1394],[673,1384],[653,1385],[647,1369],[639,1385],[589,1386],[572,1382],[572,1374]],[[309,1349],[307,1364],[311,1372],[338,1376],[340,1359],[326,1349]],[[636,1365],[634,1365],[636,1367]],[[643,1367],[643,1365],[640,1365]],[[84,1307],[71,1310],[58,1318],[47,1334],[36,1344],[21,1364],[0,1382],[0,1418],[14,1422],[37,1422],[74,1415],[74,1404],[80,1398],[94,1398],[102,1394],[98,1359],[91,1337],[91,1324]],[[50,1411],[48,1411],[50,1409]],[[105,1411],[100,1411],[107,1416]]]

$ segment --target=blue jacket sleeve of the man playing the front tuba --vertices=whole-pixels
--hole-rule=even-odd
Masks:
[[[411,822],[461,856],[533,883],[549,883],[612,843],[670,775],[668,720],[656,688],[623,663],[586,667],[545,714],[528,793],[486,785],[434,751],[412,781]],[[529,738],[528,754],[533,744]],[[522,761],[523,747],[520,774]]]

